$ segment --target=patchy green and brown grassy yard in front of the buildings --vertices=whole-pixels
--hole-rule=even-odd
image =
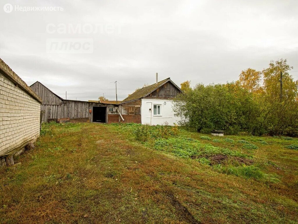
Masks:
[[[297,138],[144,126],[43,125],[0,170],[0,223],[298,222]]]

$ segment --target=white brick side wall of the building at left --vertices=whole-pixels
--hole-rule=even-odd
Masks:
[[[0,73],[0,157],[39,136],[40,103]]]

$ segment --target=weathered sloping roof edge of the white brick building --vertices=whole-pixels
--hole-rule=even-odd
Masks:
[[[23,89],[26,93],[42,103],[42,99],[24,82],[1,58],[0,58],[0,71],[10,79],[16,86]]]

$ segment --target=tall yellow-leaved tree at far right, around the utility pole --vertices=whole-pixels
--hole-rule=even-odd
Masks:
[[[290,71],[293,67],[286,59],[271,61],[263,70],[264,99],[268,102],[268,129],[271,134],[298,134],[298,82]],[[280,100],[280,73],[283,73],[282,100]],[[296,134],[295,134],[296,133]]]

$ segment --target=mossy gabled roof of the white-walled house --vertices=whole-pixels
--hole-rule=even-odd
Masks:
[[[161,87],[162,85],[164,85],[167,82],[171,82],[177,89],[179,89],[181,91],[181,89],[170,78],[167,78],[160,82],[154,83],[153,85],[146,86],[146,87],[136,90],[134,93],[132,93],[131,95],[126,97],[124,100],[122,100],[121,103],[134,101],[134,100],[146,97],[150,93],[152,93],[154,90],[158,89],[159,87]]]

